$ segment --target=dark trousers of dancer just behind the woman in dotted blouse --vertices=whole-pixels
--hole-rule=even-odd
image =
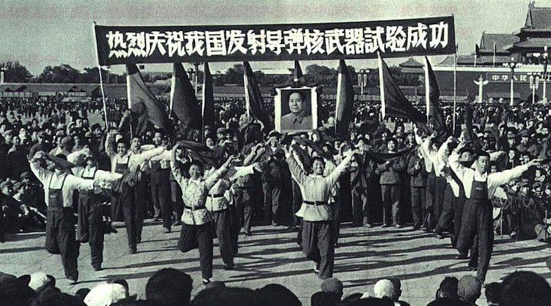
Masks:
[[[231,211],[229,208],[212,212],[214,217],[214,232],[218,237],[218,246],[220,247],[220,256],[226,265],[233,265],[233,256],[236,250],[233,247],[233,238],[231,231]]]

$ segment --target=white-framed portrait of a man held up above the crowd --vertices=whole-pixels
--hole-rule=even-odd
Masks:
[[[276,88],[275,131],[307,132],[318,129],[317,87]]]

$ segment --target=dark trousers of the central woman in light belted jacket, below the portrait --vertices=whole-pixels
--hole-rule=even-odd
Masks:
[[[302,252],[320,267],[320,278],[333,276],[335,244],[332,221],[302,221]]]

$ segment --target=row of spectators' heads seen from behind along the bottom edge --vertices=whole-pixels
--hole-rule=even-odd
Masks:
[[[131,294],[125,279],[102,282],[92,289],[81,288],[75,294],[61,292],[56,279],[44,272],[13,276],[0,273],[0,303],[12,306],[226,306],[267,305],[300,306],[293,289],[270,283],[258,289],[229,287],[221,281],[207,284],[194,297],[193,280],[185,272],[164,268],[153,274],[145,285],[145,299]],[[326,278],[320,291],[309,299],[311,306],[408,306],[402,298],[398,278],[383,278],[372,290],[344,295],[342,282]],[[435,290],[428,306],[472,306],[481,298],[481,283],[474,276],[457,279],[446,276]],[[549,305],[551,287],[545,278],[533,272],[513,272],[501,283],[489,283],[484,290],[487,305]]]

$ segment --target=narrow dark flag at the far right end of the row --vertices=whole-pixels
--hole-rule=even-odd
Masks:
[[[440,108],[440,89],[436,82],[435,72],[433,67],[430,66],[428,58],[425,56],[425,98],[426,98],[426,113],[428,113],[428,120],[432,122],[433,129],[437,133],[439,142],[446,141],[448,137],[448,127],[446,126],[446,118],[444,118],[444,111]]]

